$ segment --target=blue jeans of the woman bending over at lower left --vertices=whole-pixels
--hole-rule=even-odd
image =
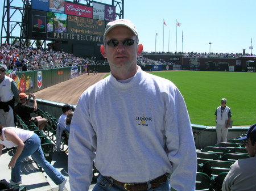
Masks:
[[[44,158],[41,148],[41,140],[38,135],[34,133],[34,135],[28,138],[24,143],[25,145],[23,151],[16,160],[15,167],[11,169],[11,180],[14,182],[21,181],[20,163],[23,159],[31,155],[36,163],[38,163],[38,165],[44,169],[44,172],[47,173],[55,184],[61,184],[65,180],[65,177],[61,175],[61,173],[58,172],[49,162],[47,162],[46,158]]]

